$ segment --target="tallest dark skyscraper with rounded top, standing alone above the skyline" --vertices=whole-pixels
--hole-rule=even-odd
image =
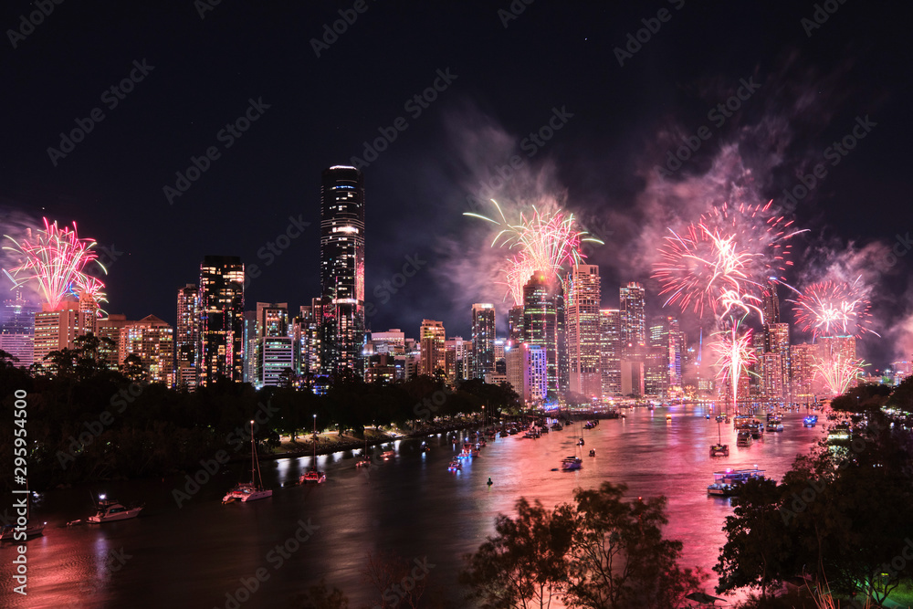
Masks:
[[[334,165],[320,185],[321,372],[363,373],[364,176]]]

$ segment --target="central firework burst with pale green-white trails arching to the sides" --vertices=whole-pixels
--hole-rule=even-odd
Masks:
[[[500,221],[472,212],[463,215],[501,227],[491,247],[503,247],[513,252],[503,263],[500,272],[506,280],[500,283],[507,286],[514,304],[523,302],[523,286],[534,272],[541,271],[549,279],[561,279],[562,269],[583,261],[582,243],[603,245],[602,240],[578,230],[573,214],[565,214],[560,209],[539,210],[532,205],[531,214],[520,212],[519,222],[511,224],[498,202],[494,199],[491,202],[498,209]]]

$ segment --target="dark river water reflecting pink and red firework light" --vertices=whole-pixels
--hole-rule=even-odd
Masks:
[[[804,428],[802,413],[787,413],[782,433],[765,433],[738,448],[732,425],[723,424],[729,457],[711,459],[708,447],[717,441],[718,425],[704,418],[702,406],[626,414],[593,430],[574,425],[537,440],[489,440],[456,474],[446,466],[461,445],[447,436],[427,438],[428,453],[420,450],[421,440],[395,442],[393,458],[375,460],[366,470],[354,467],[351,452],[318,457],[328,480],[310,487],[292,485],[311,457],[264,461],[273,497],[247,504],[221,505],[241,467],[217,473],[180,508],[173,489],[184,488],[183,476],[52,490],[33,509],[47,528],[28,541],[27,597],[12,592],[14,547],[0,547],[0,606],[285,608],[321,577],[345,591],[353,608],[373,606],[381,592],[364,582],[362,572],[368,555],[381,551],[425,565],[427,583],[456,593],[462,555],[493,532],[498,512],[511,513],[519,497],[551,508],[571,500],[573,488],[595,488],[603,480],[624,482],[631,497],[666,495],[666,537],[684,542],[684,566],[709,571],[731,513],[728,499],[707,495],[713,472],[757,465],[782,479],[793,458],[822,437],[821,425]],[[673,415],[671,422],[666,414]],[[583,457],[577,472],[552,471],[574,453],[578,436],[585,438],[584,454],[594,448],[596,457]],[[67,527],[91,513],[92,491],[146,508],[134,520]],[[708,589],[716,582],[711,576]],[[257,581],[256,591],[247,593],[242,581],[248,588]]]

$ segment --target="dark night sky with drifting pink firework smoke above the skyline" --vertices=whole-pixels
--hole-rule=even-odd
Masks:
[[[506,325],[504,289],[491,282],[499,254],[490,226],[462,215],[473,210],[467,195],[508,209],[564,203],[606,242],[586,249],[603,306],[639,280],[656,312],[649,264],[666,226],[723,202],[783,205],[783,189],[824,163],[795,205],[795,226],[809,232],[793,242],[790,282],[861,276],[885,337],[861,342],[866,360],[881,367],[913,352],[913,255],[889,264],[891,247],[913,247],[905,4],[68,0],[22,26],[41,4],[0,11],[0,217],[14,235],[42,215],[75,220],[81,236],[121,252],[106,278],[112,313],[173,323],[176,290],[197,281],[205,255],[257,264],[247,309],[310,303],[320,172],[373,158],[364,142],[395,131],[362,169],[374,331],[417,337],[429,318],[468,337],[477,301],[495,301]],[[335,38],[334,22],[345,24]],[[646,41],[630,42],[638,30]],[[634,52],[616,50],[627,45]],[[110,88],[131,74],[119,99]],[[436,99],[420,105],[428,88]],[[740,91],[738,110],[713,112]],[[82,142],[48,152],[95,109],[103,119]],[[257,119],[247,131],[222,131],[248,111]],[[560,128],[548,142],[527,139],[550,120]],[[866,136],[845,155],[831,150],[832,164],[827,149],[862,123]],[[698,151],[659,176],[667,152],[701,127],[710,136]],[[210,147],[218,158],[170,201],[164,187]],[[514,155],[519,168],[480,193]],[[310,226],[268,256],[290,216]],[[396,279],[411,264],[415,276]]]

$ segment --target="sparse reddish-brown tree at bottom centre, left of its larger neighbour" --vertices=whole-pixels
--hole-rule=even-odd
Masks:
[[[548,607],[567,583],[573,511],[564,504],[545,509],[540,501],[517,501],[517,518],[498,514],[497,535],[465,557],[468,568],[460,583],[482,607],[508,609]]]

